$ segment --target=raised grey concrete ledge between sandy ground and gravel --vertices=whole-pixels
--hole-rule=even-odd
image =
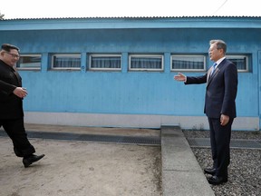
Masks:
[[[183,132],[178,126],[161,127],[163,196],[214,196]]]

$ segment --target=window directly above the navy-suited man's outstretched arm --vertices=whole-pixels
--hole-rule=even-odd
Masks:
[[[204,55],[171,55],[171,71],[205,71]]]

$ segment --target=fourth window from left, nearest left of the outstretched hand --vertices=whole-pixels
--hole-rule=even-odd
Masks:
[[[138,71],[162,71],[163,55],[160,54],[131,54],[129,69]]]

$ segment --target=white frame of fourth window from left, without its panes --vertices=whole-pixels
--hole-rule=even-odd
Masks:
[[[143,58],[160,58],[161,60],[161,68],[153,69],[153,68],[131,68],[131,57],[143,57]],[[151,71],[151,72],[159,72],[164,70],[164,55],[163,54],[130,54],[129,55],[129,70],[130,71]]]

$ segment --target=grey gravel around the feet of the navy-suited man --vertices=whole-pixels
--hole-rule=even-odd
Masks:
[[[183,131],[186,138],[208,138],[208,131]],[[261,132],[233,131],[232,139],[259,140]],[[212,166],[210,148],[192,148],[200,167]],[[261,150],[231,149],[228,181],[218,186],[210,185],[217,196],[261,195]],[[206,176],[208,176],[206,174]]]

